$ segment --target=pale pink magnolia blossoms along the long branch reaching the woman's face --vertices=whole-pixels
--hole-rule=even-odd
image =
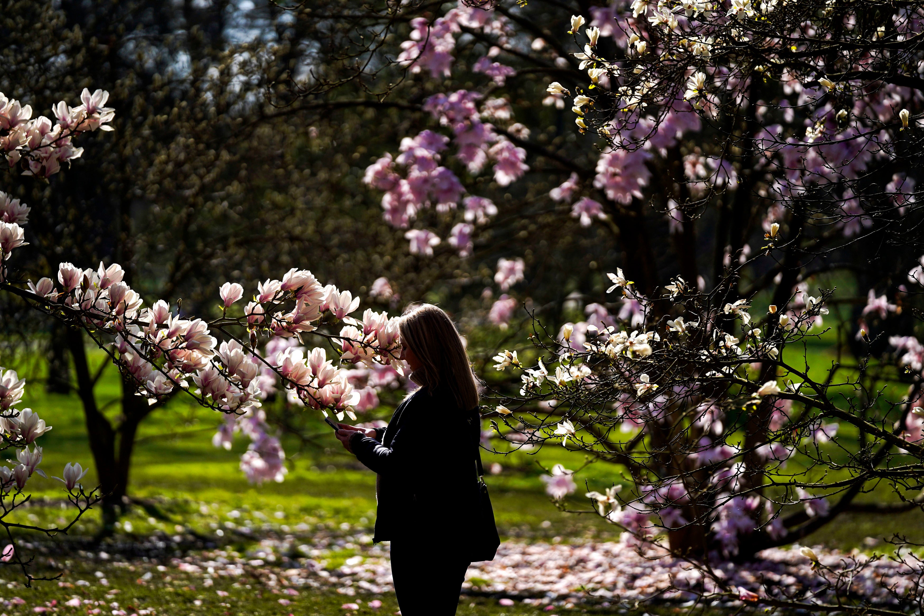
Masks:
[[[355,417],[350,405],[365,399],[354,391],[347,370],[334,366],[322,348],[306,351],[296,341],[312,332],[323,318],[362,325],[360,332],[347,325],[341,332],[346,361],[390,364],[398,353],[395,320],[367,310],[364,322],[348,315],[359,308],[359,298],[334,285],[322,286],[306,270],[293,268],[282,280],[258,285],[244,316],[232,320],[254,334],[271,338],[267,356],[255,355],[237,340],[218,343],[211,326],[201,319],[186,319],[159,300],[143,308],[140,296],[123,282],[117,264],[101,263],[96,271],[79,270],[70,263],[58,268],[57,285],[43,278],[30,284],[37,299],[59,306],[95,327],[115,334],[112,348],[116,363],[139,384],[139,395],[156,403],[178,386],[194,393],[201,404],[229,414],[216,436],[229,443],[235,429],[250,437],[241,468],[253,481],[282,480],[286,474],[285,452],[267,431],[261,401],[274,391],[281,376],[290,400],[316,409],[331,409],[337,417]],[[243,287],[225,283],[219,289],[225,314],[240,301]],[[285,309],[288,307],[289,309]],[[326,414],[326,410],[322,411]]]

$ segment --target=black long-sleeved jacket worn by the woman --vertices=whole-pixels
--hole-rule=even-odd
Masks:
[[[477,510],[477,410],[461,411],[450,393],[421,387],[380,434],[381,442],[359,433],[349,441],[359,462],[379,475],[373,540],[465,540]]]

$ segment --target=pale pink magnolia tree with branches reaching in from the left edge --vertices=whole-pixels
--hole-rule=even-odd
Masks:
[[[22,175],[55,175],[60,163],[82,153],[73,147],[72,139],[83,132],[109,129],[106,125],[115,111],[103,106],[107,97],[105,91],[91,94],[85,90],[82,105],[55,105],[57,123],[53,125],[46,117],[30,119],[28,105],[0,95],[4,123],[0,147],[10,168],[21,169]],[[286,455],[261,411],[261,401],[278,387],[286,390],[294,405],[320,410],[325,417],[332,414],[337,420],[355,420],[354,407],[377,404],[377,390],[403,373],[395,319],[371,309],[365,310],[361,320],[349,316],[357,312],[359,298],[334,285],[320,284],[307,270],[292,268],[280,280],[258,284],[252,301],[242,309],[237,302],[245,303],[243,286],[221,284],[217,296],[222,316],[208,321],[184,314],[179,306],[171,307],[164,300],[146,308],[141,296],[124,281],[125,272],[117,263],[82,269],[64,262],[58,265],[54,279],[21,280],[16,252],[27,245],[29,214],[30,207],[19,199],[0,196],[0,290],[71,330],[86,332],[149,405],[181,392],[224,413],[228,418],[215,444],[229,446],[238,429],[249,436],[251,444],[241,457],[241,469],[252,481],[282,481],[286,474]],[[327,348],[307,347],[309,337]],[[361,387],[354,388],[354,384]],[[14,408],[23,389],[24,381],[16,372],[0,368],[3,439],[7,446],[21,450],[17,454],[21,464],[13,470],[0,466],[0,476],[6,477],[0,492],[5,513],[0,525],[8,534],[14,528],[49,535],[66,532],[69,525],[38,528],[6,520],[6,513],[29,500],[23,489],[31,474],[44,475],[37,469],[42,448],[30,450],[29,445],[51,429],[30,409]],[[68,499],[78,508],[74,522],[106,496],[83,490],[79,479],[84,473],[80,465],[68,464],[61,479]],[[27,562],[20,560],[11,543],[3,561],[13,559],[25,571]]]

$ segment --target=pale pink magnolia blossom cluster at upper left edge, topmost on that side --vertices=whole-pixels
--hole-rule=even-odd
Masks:
[[[32,118],[31,105],[7,99],[0,92],[0,132],[3,133],[0,151],[6,156],[6,162],[12,167],[24,161],[23,175],[55,175],[61,170],[61,163],[83,154],[83,148],[74,147],[74,137],[97,129],[113,129],[109,124],[115,117],[115,110],[104,106],[108,98],[107,91],[91,93],[84,89],[79,106],[70,107],[61,101],[52,107],[56,119],[53,122],[44,115]]]

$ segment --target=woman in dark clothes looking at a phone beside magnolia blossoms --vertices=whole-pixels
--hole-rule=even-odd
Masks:
[[[397,407],[387,428],[338,424],[336,436],[378,474],[373,540],[392,542],[402,615],[451,616],[477,538],[478,387],[442,309],[412,308],[399,330],[401,358],[419,390]]]

